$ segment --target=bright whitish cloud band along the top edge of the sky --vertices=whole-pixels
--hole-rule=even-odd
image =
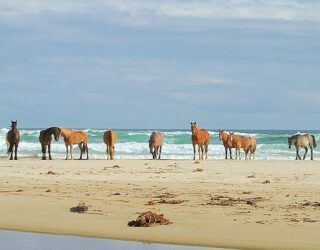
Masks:
[[[147,25],[167,18],[320,21],[320,2],[301,0],[3,0],[0,9],[2,18],[51,11],[100,16],[124,25]]]

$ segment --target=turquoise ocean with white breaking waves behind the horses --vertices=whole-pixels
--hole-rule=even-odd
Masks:
[[[5,135],[8,128],[0,129],[0,156],[5,157],[7,147]],[[39,132],[41,129],[19,129],[21,140],[18,149],[18,157],[41,158],[41,145],[39,143]],[[89,157],[90,159],[106,159],[106,146],[103,142],[105,129],[82,129],[89,135]],[[152,131],[164,132],[164,145],[162,159],[192,159],[193,149],[191,145],[191,131],[183,129],[115,129],[117,133],[115,159],[151,159],[148,140]],[[229,130],[239,135],[255,137],[257,140],[256,159],[262,160],[288,160],[295,159],[295,149],[288,149],[288,137],[297,133],[311,133],[320,140],[320,130],[297,131],[297,130]],[[219,140],[218,130],[211,129],[209,159],[224,159],[224,147]],[[65,158],[65,145],[63,138],[58,142],[52,140],[51,154],[53,159]],[[242,151],[243,152],[243,151]],[[301,155],[304,150],[302,149]],[[79,157],[77,146],[73,148],[74,158]],[[234,155],[234,150],[233,150]],[[244,153],[241,153],[244,157]],[[310,152],[307,159],[310,158]],[[317,149],[314,154],[319,159]]]

